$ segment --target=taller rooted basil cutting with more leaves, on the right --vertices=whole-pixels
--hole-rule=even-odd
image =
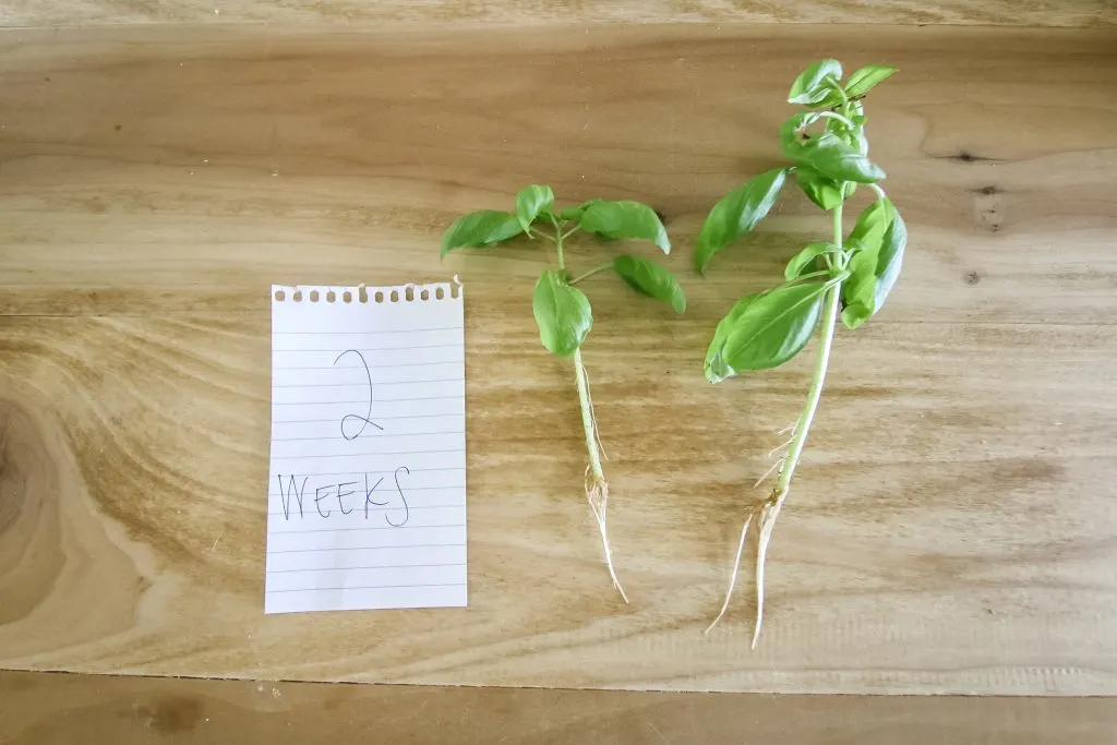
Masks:
[[[706,379],[719,383],[737,373],[782,365],[799,354],[815,332],[819,336],[806,402],[790,428],[791,439],[776,450],[782,455],[757,486],[773,472],[776,483],[765,499],[748,508],[725,602],[707,629],[713,629],[729,606],[748,527],[758,512],[753,647],[764,618],[767,546],[819,407],[838,319],[847,328],[858,328],[881,308],[900,274],[907,228],[879,185],[885,172],[869,160],[862,103],[869,90],[895,71],[870,65],[843,84],[838,60],[823,59],[803,70],[791,86],[787,102],[805,111],[792,115],[780,132],[783,154],[791,165],[762,173],[723,198],[698,236],[695,261],[705,273],[717,251],[764,219],[790,180],[830,212],[833,222],[832,237],[808,243],[791,258],[781,285],[737,300],[717,324],[706,352]],[[842,212],[858,187],[867,187],[873,201],[846,235]]]

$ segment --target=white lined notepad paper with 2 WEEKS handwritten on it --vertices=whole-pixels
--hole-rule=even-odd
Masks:
[[[465,605],[461,287],[271,296],[265,613]]]

